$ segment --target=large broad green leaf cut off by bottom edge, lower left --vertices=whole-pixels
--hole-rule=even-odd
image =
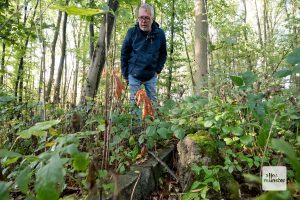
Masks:
[[[36,172],[36,193],[40,200],[59,198],[64,186],[64,168],[59,155],[54,155],[49,163]]]

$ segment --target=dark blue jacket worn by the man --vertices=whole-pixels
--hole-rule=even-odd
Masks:
[[[126,80],[129,74],[140,81],[150,80],[161,72],[166,59],[165,33],[155,21],[150,33],[142,31],[138,24],[127,31],[121,50],[121,69]]]

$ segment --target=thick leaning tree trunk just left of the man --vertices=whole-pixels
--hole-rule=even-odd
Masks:
[[[119,2],[117,0],[109,0],[109,7],[115,12],[118,9]],[[82,89],[80,103],[86,102],[86,97],[94,98],[99,86],[99,81],[104,68],[105,63],[105,42],[107,37],[107,42],[109,47],[109,41],[111,38],[112,28],[114,24],[115,17],[111,13],[107,13],[107,17],[103,18],[102,26],[99,31],[99,39],[93,54],[92,62],[89,68],[88,76],[85,80],[84,87]],[[107,20],[107,21],[106,21]],[[107,30],[106,30],[107,29]]]

